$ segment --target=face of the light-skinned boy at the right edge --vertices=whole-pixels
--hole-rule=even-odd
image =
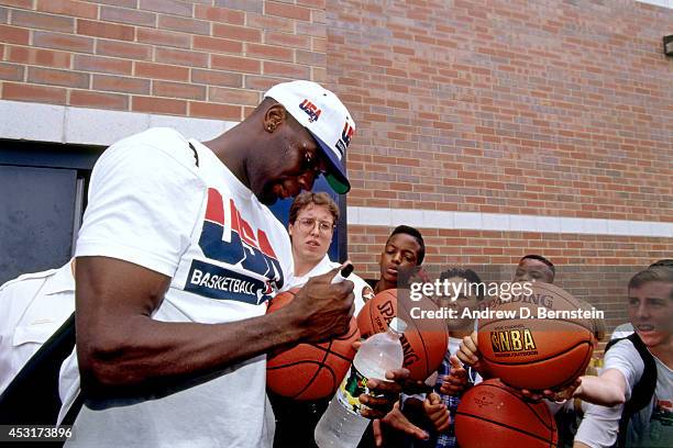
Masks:
[[[646,346],[670,340],[673,331],[673,283],[651,281],[629,290],[629,320]]]

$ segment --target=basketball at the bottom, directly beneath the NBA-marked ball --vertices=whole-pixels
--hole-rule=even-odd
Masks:
[[[559,441],[544,402],[528,403],[498,380],[487,380],[461,397],[455,413],[461,448],[550,448]]]

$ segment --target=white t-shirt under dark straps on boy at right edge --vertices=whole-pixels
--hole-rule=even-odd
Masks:
[[[673,371],[654,357],[657,388],[650,403],[631,417],[628,447],[673,447]],[[644,363],[630,340],[620,340],[605,354],[605,369],[617,369],[627,383],[626,397],[642,377]],[[624,405],[588,404],[575,440],[593,448],[608,448],[617,441]]]

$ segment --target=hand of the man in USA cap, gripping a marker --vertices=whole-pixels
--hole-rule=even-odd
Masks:
[[[355,312],[353,282],[331,283],[342,266],[312,277],[278,312],[289,313],[302,329],[301,341],[319,343],[349,331]]]

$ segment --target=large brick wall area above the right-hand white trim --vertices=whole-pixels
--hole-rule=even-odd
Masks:
[[[673,10],[334,1],[349,204],[673,221]]]

